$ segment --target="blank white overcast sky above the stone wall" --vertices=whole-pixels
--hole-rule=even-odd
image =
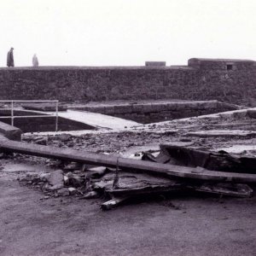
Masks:
[[[255,0],[0,0],[0,67],[256,60]]]

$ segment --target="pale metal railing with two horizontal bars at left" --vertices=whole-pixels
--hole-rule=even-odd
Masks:
[[[9,102],[11,104],[11,115],[9,116],[0,116],[0,119],[9,119],[11,118],[11,125],[14,126],[15,118],[49,118],[55,116],[55,131],[58,131],[58,111],[59,111],[59,101],[0,101],[0,102]],[[15,102],[55,102],[55,115],[45,114],[45,115],[16,115],[14,114],[14,103]]]

